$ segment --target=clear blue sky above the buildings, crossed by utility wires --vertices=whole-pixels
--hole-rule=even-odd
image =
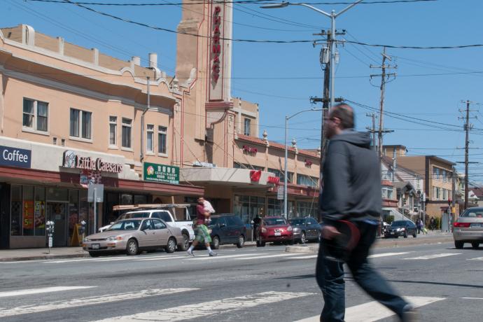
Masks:
[[[307,3],[337,0],[309,0]],[[365,2],[370,2],[367,0]],[[391,1],[391,0],[386,0]],[[96,2],[96,1],[90,1]],[[104,3],[168,3],[163,0],[98,0]],[[174,2],[172,0],[171,2]],[[177,3],[177,1],[176,1]],[[234,38],[265,40],[316,39],[312,34],[328,28],[325,16],[298,6],[264,10],[258,4],[234,4]],[[325,11],[346,5],[317,4]],[[92,8],[149,25],[176,29],[179,6],[94,6]],[[337,29],[346,29],[349,41],[382,45],[440,46],[483,43],[483,1],[437,0],[413,3],[358,4],[337,18]],[[70,4],[23,0],[0,2],[2,27],[26,23],[39,32],[62,36],[71,43],[128,60],[137,55],[146,64],[148,52],[158,52],[160,68],[173,75],[176,64],[176,35],[139,27],[92,13]],[[309,109],[309,97],[320,96],[322,70],[320,46],[311,43],[234,43],[232,95],[260,104],[260,133],[283,141],[284,116]],[[382,48],[346,43],[339,45],[335,94],[373,108],[379,106],[380,78],[370,74],[370,64],[381,64]],[[388,49],[396,78],[386,85],[386,111],[405,120],[384,116],[384,125],[395,130],[384,137],[385,144],[407,146],[409,155],[434,154],[451,161],[463,161],[465,135],[461,100],[483,104],[483,47],[450,50]],[[433,75],[428,75],[433,74]],[[374,86],[375,85],[375,86]],[[371,124],[370,109],[356,108],[358,130]],[[483,162],[483,106],[472,105],[470,133],[473,141],[470,161]],[[408,118],[409,117],[409,118]],[[410,119],[412,118],[412,119]],[[415,120],[419,118],[421,120]],[[441,128],[431,127],[444,123]],[[321,115],[303,113],[290,120],[290,139],[301,148],[319,145]],[[421,123],[421,124],[419,124]],[[453,127],[449,125],[454,125]],[[456,127],[456,126],[459,126]],[[456,131],[449,131],[449,129]],[[463,167],[458,166],[462,170]],[[483,166],[471,165],[473,181],[482,181]]]

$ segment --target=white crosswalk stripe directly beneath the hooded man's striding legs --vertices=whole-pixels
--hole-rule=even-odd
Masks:
[[[423,307],[433,302],[445,300],[445,297],[407,296],[405,300],[412,303],[414,307]],[[395,315],[393,311],[377,301],[372,301],[347,308],[344,320],[346,322],[373,322],[393,315]],[[320,315],[316,315],[296,322],[318,322],[320,318]]]

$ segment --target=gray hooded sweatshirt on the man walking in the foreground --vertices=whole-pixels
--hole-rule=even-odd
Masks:
[[[330,139],[323,165],[321,214],[340,219],[379,221],[381,167],[367,132],[344,130]]]

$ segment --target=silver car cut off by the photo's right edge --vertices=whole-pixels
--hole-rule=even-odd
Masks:
[[[483,208],[472,207],[453,224],[454,246],[463,248],[465,243],[471,243],[472,248],[478,248],[483,243]]]

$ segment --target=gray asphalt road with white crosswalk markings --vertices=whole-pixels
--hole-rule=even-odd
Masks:
[[[0,262],[0,319],[283,322],[317,316],[323,301],[314,279],[316,255],[284,250]],[[421,321],[482,321],[483,248],[376,248],[371,261],[421,306]],[[395,321],[349,273],[346,307],[347,322]]]

